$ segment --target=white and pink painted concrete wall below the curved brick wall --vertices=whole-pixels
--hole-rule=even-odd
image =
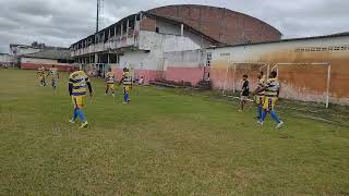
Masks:
[[[197,50],[201,47],[189,37],[157,34],[155,32],[141,30],[140,33],[140,50],[125,51],[120,57],[120,63],[115,70],[117,76],[121,76],[122,69],[129,68],[134,71],[135,76],[143,76],[145,83],[155,79],[167,78],[170,81],[190,81],[197,83],[197,76],[192,77],[191,72],[195,75],[203,75],[201,68],[192,69],[191,72],[185,71],[185,66],[192,59],[188,59],[186,63],[178,64],[179,68],[166,68],[165,52],[176,52],[183,50]],[[196,53],[197,54],[197,53]],[[189,58],[191,54],[189,56]],[[198,57],[196,57],[198,58]],[[195,64],[195,62],[193,62]],[[189,73],[184,77],[183,73]],[[201,76],[202,77],[202,76]]]

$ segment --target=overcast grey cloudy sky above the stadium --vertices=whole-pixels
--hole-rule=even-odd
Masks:
[[[206,4],[257,17],[284,38],[349,32],[348,0],[103,0],[101,27],[169,4]],[[0,0],[0,52],[33,41],[69,47],[95,32],[96,0]]]

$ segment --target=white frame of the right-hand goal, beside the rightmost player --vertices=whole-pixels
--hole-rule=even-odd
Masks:
[[[330,69],[332,63],[330,62],[313,62],[313,63],[276,63],[272,71],[277,72],[277,75],[279,77],[279,66],[286,66],[286,65],[316,65],[316,66],[326,66],[327,68],[327,81],[326,81],[326,109],[329,107],[329,91],[330,91]]]

